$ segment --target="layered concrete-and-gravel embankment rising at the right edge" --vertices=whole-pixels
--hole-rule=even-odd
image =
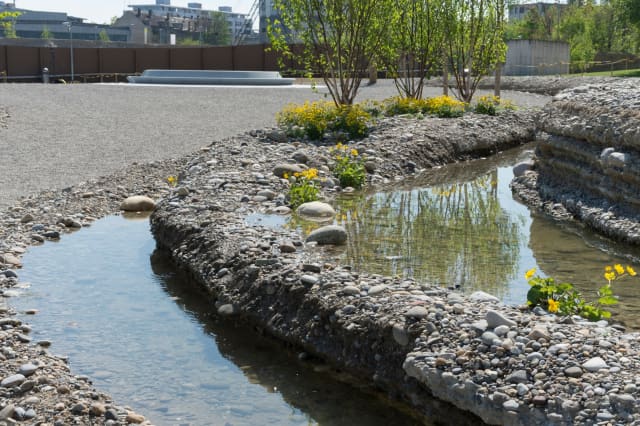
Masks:
[[[534,170],[512,183],[527,204],[640,244],[640,90],[617,80],[567,90],[540,115]]]

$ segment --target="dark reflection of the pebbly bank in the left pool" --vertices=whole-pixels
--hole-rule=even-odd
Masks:
[[[315,365],[322,373],[315,372],[312,363],[299,362],[295,353],[258,336],[246,326],[236,326],[210,315],[206,298],[185,286],[188,278],[171,266],[164,252],[155,251],[151,265],[154,273],[162,278],[162,287],[167,294],[215,339],[220,354],[239,366],[250,383],[261,386],[268,393],[282,395],[288,404],[305,413],[309,424],[431,424],[393,408],[372,389],[362,388],[362,393],[337,383],[334,379],[340,378],[339,373],[327,371],[322,365]],[[248,411],[257,408],[252,406],[252,401],[241,404]],[[292,409],[292,416],[297,410]],[[463,414],[459,416],[468,419]]]

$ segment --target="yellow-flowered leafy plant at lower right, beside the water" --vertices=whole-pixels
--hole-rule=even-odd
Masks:
[[[604,278],[607,283],[598,289],[598,299],[595,302],[588,302],[573,287],[573,284],[558,283],[551,277],[534,276],[535,272],[535,269],[531,269],[525,274],[531,286],[527,293],[527,304],[530,307],[540,306],[559,315],[580,315],[590,321],[611,317],[611,312],[604,307],[618,303],[618,298],[613,294],[611,286],[613,281],[626,275],[636,276],[631,266],[626,268],[620,264],[606,266]]]

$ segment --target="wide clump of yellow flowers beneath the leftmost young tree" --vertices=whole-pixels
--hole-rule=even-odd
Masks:
[[[291,104],[276,115],[278,126],[293,137],[320,140],[325,132],[344,133],[350,139],[360,139],[369,132],[371,115],[359,105],[336,106],[332,102]]]

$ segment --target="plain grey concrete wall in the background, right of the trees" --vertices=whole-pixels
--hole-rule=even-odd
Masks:
[[[569,73],[569,44],[562,41],[509,40],[504,75]]]

